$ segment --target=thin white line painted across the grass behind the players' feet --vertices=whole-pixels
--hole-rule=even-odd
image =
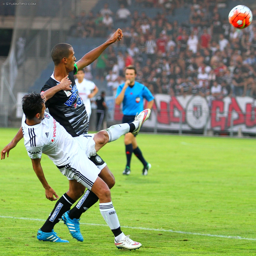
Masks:
[[[34,220],[34,221],[45,221],[42,219],[32,219],[32,218],[23,218],[23,217],[11,217],[11,216],[0,216],[0,218],[12,218],[18,220]],[[108,226],[106,224],[94,224],[94,223],[80,223],[81,225],[92,225],[92,226]],[[140,230],[148,230],[148,231],[161,231],[161,232],[170,232],[170,233],[179,233],[179,234],[189,234],[196,236],[210,236],[210,237],[220,237],[220,238],[229,238],[229,239],[242,239],[242,240],[252,240],[256,241],[256,238],[247,238],[241,236],[223,236],[223,235],[212,235],[212,234],[201,234],[201,233],[193,233],[193,232],[184,232],[184,231],[175,231],[175,230],[166,230],[162,228],[143,228],[143,227],[129,227],[122,226],[122,228],[132,228],[132,229],[140,229]]]

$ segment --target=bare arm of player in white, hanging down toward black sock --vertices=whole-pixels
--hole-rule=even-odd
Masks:
[[[46,181],[46,179],[44,177],[44,172],[43,172],[43,169],[41,166],[41,158],[31,159],[31,161],[32,161],[32,166],[33,166],[34,172],[36,173],[36,176],[38,177],[38,179],[40,180],[40,182],[42,183],[42,185],[45,189],[46,198],[49,199],[50,201],[57,200],[57,198],[59,198],[59,196],[50,187],[50,185],[48,184],[48,182]],[[54,196],[56,196],[56,198],[54,198]]]

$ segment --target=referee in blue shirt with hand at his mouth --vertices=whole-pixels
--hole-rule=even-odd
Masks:
[[[120,105],[123,103],[124,116],[122,122],[129,123],[131,120],[134,120],[137,113],[143,111],[143,98],[148,101],[146,108],[151,109],[154,103],[154,97],[148,88],[135,81],[136,75],[135,67],[131,65],[127,66],[125,68],[126,81],[125,83],[120,84],[116,91],[116,104]],[[133,152],[144,166],[142,169],[142,175],[147,175],[148,170],[151,168],[151,164],[144,159],[142,152],[137,145],[135,135],[131,133],[125,134],[124,143],[127,163],[123,174],[129,175],[131,172],[130,163]]]

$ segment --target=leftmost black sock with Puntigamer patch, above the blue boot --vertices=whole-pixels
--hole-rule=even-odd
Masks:
[[[54,209],[52,210],[50,216],[41,227],[42,232],[52,232],[55,224],[57,224],[61,220],[61,216],[68,210],[72,204],[74,204],[74,200],[70,198],[66,193],[56,202]]]

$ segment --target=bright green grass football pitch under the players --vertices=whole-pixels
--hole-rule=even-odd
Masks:
[[[1,128],[0,150],[18,129]],[[255,255],[255,139],[139,134],[148,176],[132,156],[125,167],[123,138],[99,151],[115,175],[112,202],[122,231],[142,247],[118,250],[95,204],[81,216],[84,242],[63,222],[55,232],[70,243],[39,242],[38,229],[55,202],[45,198],[23,140],[0,161],[0,255]],[[61,196],[68,181],[42,156],[48,183]]]

